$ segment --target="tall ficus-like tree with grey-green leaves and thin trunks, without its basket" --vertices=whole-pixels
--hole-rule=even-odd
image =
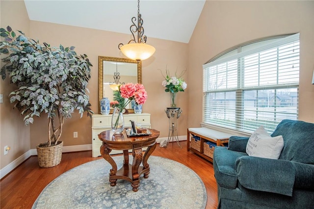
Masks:
[[[26,125],[33,123],[33,117],[46,113],[54,122],[58,118],[60,127],[52,124],[51,139],[60,138],[63,118],[71,118],[78,110],[81,115],[93,114],[87,94],[87,84],[91,77],[87,55],[77,55],[75,47],[51,47],[47,43],[39,44],[18,30],[16,33],[10,26],[0,28],[1,60],[5,63],[0,71],[2,79],[9,76],[10,82],[16,85],[11,92],[10,102],[24,115]],[[8,54],[3,56],[3,54]],[[56,136],[56,131],[59,135]],[[56,143],[55,142],[55,143]]]

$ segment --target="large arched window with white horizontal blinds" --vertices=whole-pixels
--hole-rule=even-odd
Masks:
[[[299,34],[236,51],[203,65],[203,123],[272,132],[283,119],[297,120]]]

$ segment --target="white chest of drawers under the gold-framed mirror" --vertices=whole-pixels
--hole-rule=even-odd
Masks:
[[[102,131],[111,129],[111,117],[112,114],[102,115],[102,114],[93,114],[92,116],[92,156],[98,157],[100,154],[100,147],[102,146],[102,141],[98,138],[98,134]],[[151,128],[151,114],[141,113],[141,114],[124,114],[124,126],[126,128],[131,127],[131,121],[140,123],[143,128]],[[122,150],[112,150],[110,155],[123,153]]]

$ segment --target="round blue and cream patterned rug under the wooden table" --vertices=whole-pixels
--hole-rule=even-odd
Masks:
[[[113,157],[118,169],[123,156]],[[130,156],[130,162],[132,157]],[[204,209],[206,188],[199,176],[171,159],[151,156],[149,178],[140,177],[139,190],[117,180],[110,186],[111,165],[98,159],[79,165],[48,184],[33,209]]]

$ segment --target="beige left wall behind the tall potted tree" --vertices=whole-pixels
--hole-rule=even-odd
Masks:
[[[28,33],[28,15],[24,1],[0,1],[0,26],[6,28],[11,26],[15,30],[22,30]],[[1,54],[2,58],[3,54]],[[1,66],[3,63],[1,62]],[[22,156],[30,149],[29,126],[25,126],[23,117],[19,111],[13,109],[8,95],[15,90],[9,79],[4,81],[0,78],[0,94],[3,94],[3,103],[0,104],[0,168]],[[4,146],[10,146],[11,150],[7,155],[3,155]]]

